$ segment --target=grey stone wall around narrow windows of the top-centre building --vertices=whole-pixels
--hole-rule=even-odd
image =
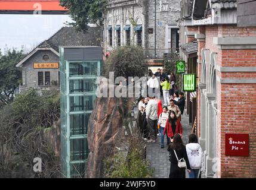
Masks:
[[[119,2],[119,3],[118,3]],[[125,2],[125,4],[124,4]],[[149,53],[155,52],[155,32],[156,49],[158,49],[158,58],[162,58],[164,49],[176,45],[175,36],[171,37],[171,28],[177,27],[177,20],[180,18],[180,0],[156,1],[156,31],[155,31],[155,0],[137,0],[137,1],[111,1],[105,15],[105,47],[106,50],[112,50],[117,47],[115,26],[121,25],[121,45],[126,45],[125,25],[131,25],[129,14],[133,15],[134,21],[143,26],[142,47],[149,49]],[[107,26],[112,26],[113,47],[109,46],[109,31]],[[153,33],[149,33],[153,29]],[[173,31],[172,31],[173,32]],[[131,26],[131,38],[134,36],[134,29]],[[178,39],[177,39],[178,40]],[[134,44],[137,44],[136,37]],[[169,42],[169,43],[168,43]],[[166,50],[167,52],[167,50]]]

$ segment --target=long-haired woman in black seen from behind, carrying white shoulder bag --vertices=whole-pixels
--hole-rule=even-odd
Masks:
[[[189,159],[187,158],[186,146],[183,145],[180,134],[174,135],[173,143],[169,144],[167,150],[169,151],[169,161],[171,162],[169,178],[186,178],[185,168],[178,167],[178,160],[184,158],[187,165],[187,171],[189,173],[191,172]],[[177,154],[178,160],[175,156],[174,150]]]

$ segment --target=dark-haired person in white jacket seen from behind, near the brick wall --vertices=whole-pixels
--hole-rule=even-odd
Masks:
[[[203,171],[204,160],[203,150],[201,148],[201,145],[198,144],[198,137],[196,137],[196,134],[189,135],[189,144],[186,145],[186,150],[189,164],[191,167],[191,173],[189,173],[189,178],[198,178],[199,173]]]

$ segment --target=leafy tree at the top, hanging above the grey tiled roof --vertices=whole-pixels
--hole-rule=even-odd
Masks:
[[[89,23],[103,25],[103,12],[106,9],[106,0],[60,0],[60,5],[69,9],[69,14],[80,31],[86,31]]]

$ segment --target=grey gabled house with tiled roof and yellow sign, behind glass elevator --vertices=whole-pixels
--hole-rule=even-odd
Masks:
[[[63,27],[40,43],[16,65],[22,68],[23,87],[44,88],[59,85],[59,46],[100,46],[100,27],[89,27],[86,33],[75,27]]]

